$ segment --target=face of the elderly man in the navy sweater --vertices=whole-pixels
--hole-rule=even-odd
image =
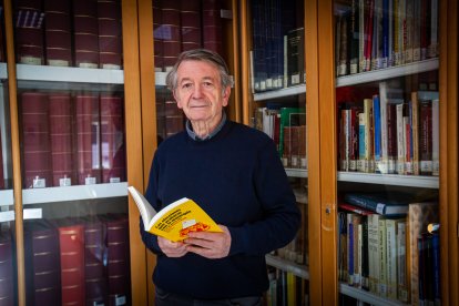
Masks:
[[[216,126],[222,109],[228,103],[231,88],[222,90],[218,70],[205,61],[187,60],[177,70],[174,98],[190,121],[204,121]]]

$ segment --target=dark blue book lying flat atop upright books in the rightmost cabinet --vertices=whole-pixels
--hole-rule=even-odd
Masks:
[[[346,193],[344,200],[384,216],[404,216],[408,214],[408,204],[412,202],[406,194],[398,193],[390,198],[379,193]]]

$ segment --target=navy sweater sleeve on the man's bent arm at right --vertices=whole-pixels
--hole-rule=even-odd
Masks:
[[[263,210],[261,220],[230,227],[230,254],[264,255],[287,245],[300,224],[300,212],[273,142],[258,152],[254,188]]]

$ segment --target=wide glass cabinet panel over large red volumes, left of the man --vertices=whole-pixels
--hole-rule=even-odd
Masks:
[[[27,304],[131,302],[121,1],[14,1]]]

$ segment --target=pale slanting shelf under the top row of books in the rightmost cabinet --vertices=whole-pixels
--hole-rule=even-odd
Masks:
[[[336,86],[350,86],[368,82],[377,82],[397,76],[410,75],[432,70],[438,70],[438,59],[430,59],[386,69],[371,70],[367,72],[349,74],[336,79]]]

